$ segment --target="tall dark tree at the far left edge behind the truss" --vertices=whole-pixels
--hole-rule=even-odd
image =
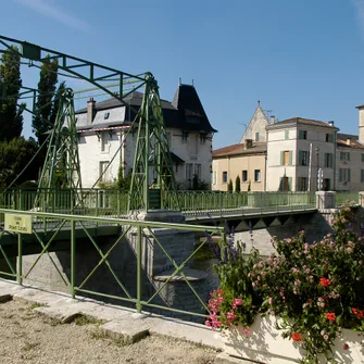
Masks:
[[[0,141],[21,136],[25,104],[17,106],[21,78],[21,58],[17,48],[3,53],[0,64]]]

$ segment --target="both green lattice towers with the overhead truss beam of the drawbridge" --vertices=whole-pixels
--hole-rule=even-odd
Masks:
[[[17,51],[14,46],[18,47],[20,50]],[[28,66],[30,67],[50,55],[51,59],[59,61],[59,70],[65,71],[74,78],[76,77],[92,84],[133,111],[136,118],[131,123],[129,130],[138,128],[138,141],[135,152],[128,209],[148,211],[150,208],[168,208],[170,205],[166,201],[171,201],[171,199],[173,200],[174,209],[176,209],[176,184],[172,159],[158,84],[151,73],[146,72],[133,75],[38,45],[0,36],[0,53],[4,52],[16,52],[21,58],[28,60]],[[117,80],[117,92],[106,87],[105,83],[110,83],[111,80]],[[141,88],[143,88],[142,105],[140,110],[136,110],[134,105],[128,103],[127,97]],[[70,121],[70,124],[63,127],[66,120]],[[60,110],[59,112],[52,133],[52,140],[48,149],[40,187],[57,187],[55,175],[60,171],[58,168],[61,168],[61,166],[66,172],[68,187],[76,189],[81,186],[76,147],[77,137],[72,93],[71,91],[66,91],[62,102],[62,111]],[[156,188],[150,189],[151,181],[154,179],[155,184],[153,184],[153,187]],[[151,203],[152,198],[156,198],[153,203]]]

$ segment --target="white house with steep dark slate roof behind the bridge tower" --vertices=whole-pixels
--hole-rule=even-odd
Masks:
[[[138,110],[142,93],[130,93],[126,102]],[[172,102],[161,100],[177,187],[192,187],[193,176],[210,185],[212,138],[199,96],[191,85],[179,85]],[[116,99],[96,102],[76,111],[78,152],[84,188],[126,177],[133,170],[137,130],[130,128],[135,113]]]

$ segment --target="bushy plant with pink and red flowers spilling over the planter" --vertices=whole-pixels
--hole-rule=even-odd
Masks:
[[[223,279],[210,300],[214,310],[208,325],[241,324],[247,330],[256,313],[277,315],[283,337],[305,349],[302,363],[317,363],[318,354],[331,359],[340,328],[364,330],[364,243],[352,231],[352,219],[347,203],[336,214],[334,234],[319,242],[306,243],[301,231],[290,239],[273,238],[277,252],[267,260],[253,251],[248,259],[221,264]]]

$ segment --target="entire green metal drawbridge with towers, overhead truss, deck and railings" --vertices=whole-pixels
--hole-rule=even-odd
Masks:
[[[0,196],[1,277],[16,279],[22,285],[41,260],[48,258],[72,298],[75,298],[76,293],[92,294],[129,303],[137,312],[150,307],[204,317],[209,314],[206,299],[199,294],[193,284],[194,278],[191,280],[185,269],[199,250],[209,243],[217,243],[222,254],[227,254],[226,231],[224,227],[218,226],[221,222],[246,217],[254,218],[254,222],[261,218],[268,222],[279,214],[287,216],[315,211],[315,196],[307,192],[177,191],[159,86],[150,72],[133,75],[3,36],[0,36],[0,53],[16,54],[26,60],[29,67],[43,62],[48,55],[58,60],[62,72],[89,81],[93,87],[130,108],[136,115],[130,130],[137,131],[138,136],[128,193],[112,189],[83,189],[73,100],[75,91],[71,89],[64,91],[60,99],[55,124],[45,142],[48,151],[38,187],[26,190],[13,188],[12,184]],[[108,83],[114,80],[117,81],[117,92],[108,87]],[[134,110],[133,105],[127,104],[126,99],[131,92],[141,89],[142,104],[139,110]],[[34,101],[39,96],[37,89],[29,87],[24,88],[22,96],[25,95],[33,95]],[[12,96],[5,95],[5,97]],[[27,111],[39,115],[39,110],[27,109]],[[64,186],[55,188],[55,175],[60,171],[63,173]],[[158,176],[154,189],[149,188],[152,175]],[[98,180],[95,181],[95,186],[97,184]],[[180,211],[189,224],[136,218],[140,211],[148,213],[159,210]],[[12,223],[9,224],[9,221]],[[156,234],[171,229],[191,231],[198,237],[199,243],[188,256],[181,254],[183,259],[176,259],[171,249],[178,248],[179,242],[170,244],[172,248],[167,247]],[[117,271],[121,269],[115,264],[117,259],[111,260],[117,247],[127,244],[125,240],[127,237],[133,240],[130,249],[136,266],[135,289],[126,285]],[[147,250],[147,238],[151,239],[155,249],[164,254],[165,265],[172,267],[173,272],[163,284],[145,290],[143,252]],[[86,249],[93,249],[98,260],[87,262],[88,269],[85,273],[86,263],[83,262],[83,253]],[[60,251],[70,254],[70,269],[66,269],[66,275],[52,255]],[[24,267],[24,256],[28,254],[35,259],[29,266]],[[88,283],[101,267],[104,267],[114,280],[118,294],[88,288]],[[161,302],[161,293],[177,277],[193,293],[202,311],[179,310]]]

